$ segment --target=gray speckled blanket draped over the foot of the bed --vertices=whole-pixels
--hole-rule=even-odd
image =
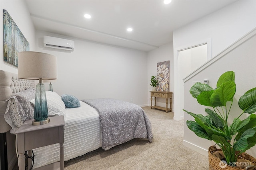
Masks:
[[[94,107],[100,115],[104,150],[135,138],[148,138],[152,142],[151,123],[140,106],[108,98],[82,102]]]

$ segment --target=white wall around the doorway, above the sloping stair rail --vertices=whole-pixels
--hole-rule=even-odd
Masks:
[[[254,27],[256,27],[256,1],[239,0],[174,30],[174,118],[181,119],[184,117],[183,106],[179,105],[182,103],[179,97],[179,87],[182,87],[182,84],[178,83],[177,67],[177,50],[179,47],[191,47],[197,45],[198,42],[202,43],[202,41],[210,39],[211,53],[214,57]]]

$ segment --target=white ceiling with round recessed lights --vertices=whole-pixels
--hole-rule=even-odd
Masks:
[[[174,29],[234,1],[26,0],[38,30],[142,51],[172,42]]]

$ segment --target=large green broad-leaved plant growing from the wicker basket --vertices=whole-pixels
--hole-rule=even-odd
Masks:
[[[188,128],[198,137],[214,141],[223,151],[226,162],[234,166],[238,155],[256,144],[256,88],[248,90],[238,101],[242,113],[228,122],[233,97],[236,93],[235,74],[228,71],[222,74],[213,89],[207,84],[196,83],[190,88],[190,94],[206,108],[206,116],[186,111],[195,121],[186,122]],[[238,111],[235,111],[238,112]],[[240,111],[239,111],[240,112]],[[250,114],[240,120],[242,114]],[[237,113],[236,113],[237,114]],[[238,151],[238,154],[235,152]]]

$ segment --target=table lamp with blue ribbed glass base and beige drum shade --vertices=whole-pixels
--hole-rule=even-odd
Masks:
[[[39,80],[36,85],[33,125],[50,122],[46,93],[42,80],[57,79],[57,57],[54,55],[34,51],[18,53],[18,78]]]

